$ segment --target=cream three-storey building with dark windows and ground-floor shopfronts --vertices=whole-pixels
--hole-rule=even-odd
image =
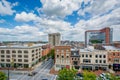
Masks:
[[[80,49],[80,68],[108,70],[107,51]]]

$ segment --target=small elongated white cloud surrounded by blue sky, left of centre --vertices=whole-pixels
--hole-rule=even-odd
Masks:
[[[29,21],[34,21],[37,19],[37,16],[33,13],[26,13],[26,12],[21,12],[20,14],[16,14],[15,20],[20,21],[20,22],[29,22]]]

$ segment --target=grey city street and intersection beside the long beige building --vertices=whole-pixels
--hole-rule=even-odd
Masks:
[[[13,73],[13,71],[10,72],[10,80],[42,80],[42,79],[48,79],[48,80],[54,80],[55,75],[49,74],[49,71],[51,67],[54,65],[53,60],[49,59],[48,61],[44,61],[40,66],[38,66],[35,70],[37,72],[34,76],[28,76],[28,73],[21,73],[16,74]]]

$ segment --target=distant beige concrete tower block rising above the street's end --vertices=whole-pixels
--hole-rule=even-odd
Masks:
[[[48,34],[48,37],[49,37],[49,44],[51,46],[60,45],[60,41],[61,41],[60,33]]]

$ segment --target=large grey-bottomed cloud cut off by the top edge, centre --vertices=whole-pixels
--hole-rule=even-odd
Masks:
[[[64,18],[79,9],[82,0],[41,0],[42,8],[39,10],[47,16]]]

